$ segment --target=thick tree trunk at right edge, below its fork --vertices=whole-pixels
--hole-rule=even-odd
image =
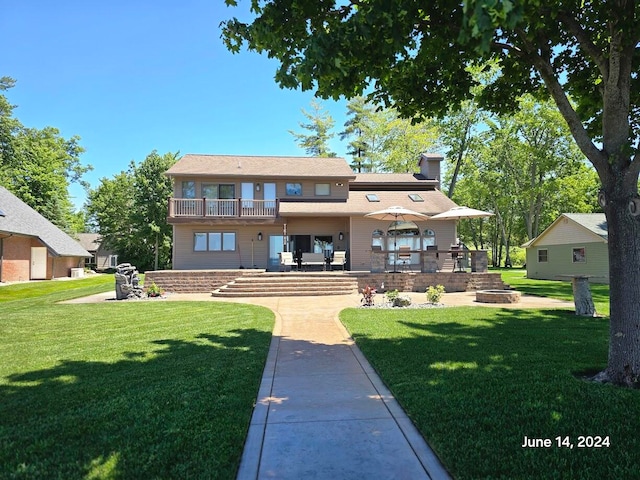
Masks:
[[[630,190],[630,189],[628,189]],[[607,196],[611,321],[608,380],[640,387],[640,216],[629,209],[637,191]],[[638,204],[640,207],[640,204]],[[640,210],[636,210],[640,213]]]

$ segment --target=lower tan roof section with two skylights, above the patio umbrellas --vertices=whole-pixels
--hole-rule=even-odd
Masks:
[[[375,195],[379,201],[369,201],[367,195]],[[409,195],[419,195],[424,201],[414,201]],[[365,215],[384,208],[401,206],[425,215],[435,215],[457,206],[439,190],[413,191],[355,191],[342,202],[280,202],[282,216],[336,216]]]

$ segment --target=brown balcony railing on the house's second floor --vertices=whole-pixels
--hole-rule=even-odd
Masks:
[[[245,200],[234,198],[170,198],[169,217],[202,218],[275,218],[278,215],[277,200]]]

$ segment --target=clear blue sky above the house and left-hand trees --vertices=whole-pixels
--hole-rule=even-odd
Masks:
[[[304,155],[288,130],[301,131],[312,92],[280,89],[277,62],[231,54],[219,24],[250,18],[248,1],[2,0],[0,76],[27,127],[81,137],[85,177],[100,178],[159,153]],[[336,121],[346,102],[322,102]],[[345,156],[337,138],[332,148]],[[74,202],[83,190],[71,188]]]

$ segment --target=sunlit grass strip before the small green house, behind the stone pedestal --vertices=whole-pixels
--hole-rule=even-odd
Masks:
[[[541,297],[558,298],[573,301],[573,290],[570,281],[532,280],[526,278],[527,271],[520,268],[491,269],[499,271],[502,280],[516,290]],[[598,315],[609,315],[609,285],[591,284],[591,296]]]

